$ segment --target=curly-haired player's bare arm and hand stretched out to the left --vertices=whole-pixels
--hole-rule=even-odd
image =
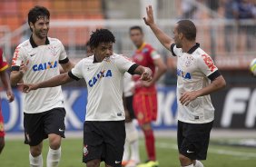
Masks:
[[[59,86],[62,85],[64,83],[69,83],[74,81],[74,79],[72,79],[68,73],[65,74],[59,74],[57,76],[54,76],[53,78],[46,80],[44,82],[41,83],[18,83],[18,85],[23,85],[23,92],[24,93],[29,93],[30,91],[39,89],[39,88],[45,88],[45,87],[55,87],[55,86]]]

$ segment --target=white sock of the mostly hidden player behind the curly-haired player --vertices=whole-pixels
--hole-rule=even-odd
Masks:
[[[125,123],[126,141],[131,145],[131,160],[140,162],[139,134],[133,122]]]

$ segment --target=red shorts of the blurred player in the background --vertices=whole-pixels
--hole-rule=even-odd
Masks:
[[[133,109],[140,125],[151,123],[157,118],[157,94],[135,93],[133,95]]]

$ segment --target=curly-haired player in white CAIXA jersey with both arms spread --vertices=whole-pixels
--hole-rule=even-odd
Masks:
[[[113,34],[98,29],[91,35],[94,55],[84,58],[66,73],[41,83],[25,83],[24,92],[54,87],[84,78],[88,88],[88,103],[84,122],[83,162],[87,167],[121,166],[125,140],[123,109],[123,74],[139,74],[143,81],[151,81],[152,71],[113,53]]]

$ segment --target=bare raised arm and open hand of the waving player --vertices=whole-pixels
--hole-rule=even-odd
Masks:
[[[160,43],[166,49],[170,50],[171,44],[172,44],[172,38],[167,34],[163,33],[162,30],[154,23],[152,5],[149,5],[148,7],[146,7],[146,12],[147,12],[147,17],[143,17],[145,24],[152,29],[153,34],[155,34],[155,36],[160,41]]]

